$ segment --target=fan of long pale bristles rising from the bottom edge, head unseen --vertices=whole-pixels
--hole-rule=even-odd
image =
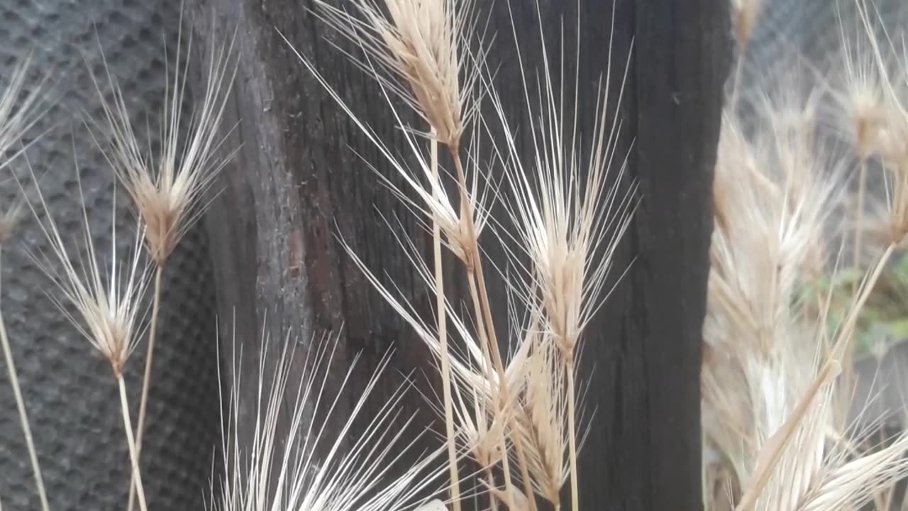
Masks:
[[[268,352],[269,342],[263,335],[262,354]],[[445,448],[416,452],[421,434],[408,436],[413,432],[412,416],[402,416],[400,408],[405,386],[400,386],[371,417],[369,426],[359,437],[346,444],[354,421],[388,366],[390,354],[381,359],[350,414],[341,416],[336,407],[356,359],[344,376],[341,389],[332,390],[330,396],[326,367],[331,366],[337,344],[337,336],[313,338],[300,360],[296,356],[298,343],[288,336],[277,360],[260,356],[252,446],[244,452],[240,441],[243,432],[238,427],[240,408],[244,406],[239,388],[245,371],[236,353],[234,337],[232,375],[235,378],[228,397],[228,426],[222,436],[224,480],[219,489],[212,485],[208,509],[403,511],[419,506],[423,511],[430,511],[445,508],[439,501],[420,501],[426,490],[439,489],[433,486],[433,481],[447,471],[447,467],[439,469],[438,463]],[[299,381],[291,380],[292,367],[301,368]],[[403,426],[399,426],[401,420]],[[341,423],[339,430],[332,429]],[[392,476],[391,467],[405,456],[419,457],[403,475]]]

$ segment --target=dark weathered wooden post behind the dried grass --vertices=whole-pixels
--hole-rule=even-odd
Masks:
[[[417,385],[429,385],[425,350],[334,237],[343,236],[368,266],[393,277],[429,313],[429,296],[415,286],[409,263],[374,212],[399,215],[411,234],[419,235],[419,229],[351,151],[381,163],[277,30],[390,140],[397,135],[374,83],[326,43],[326,37],[339,40],[301,0],[189,4],[197,42],[212,33],[223,37],[239,25],[240,69],[230,115],[232,122],[241,121],[232,141],[242,143],[242,150],[227,168],[222,195],[206,220],[222,331],[230,332],[234,315],[237,338],[247,343],[261,336],[263,324],[277,339],[290,330],[301,339],[341,331],[338,370],[361,352],[360,372],[367,375],[394,346],[397,371],[390,376],[414,374]],[[616,263],[619,269],[633,265],[583,341],[587,409],[595,410],[580,460],[585,510],[701,507],[700,343],[712,166],[729,47],[726,4],[618,0],[616,5],[618,70],[634,41],[618,112],[620,145],[630,151],[629,175],[638,180],[641,204]],[[528,62],[539,62],[536,9],[529,1],[513,1],[512,8],[521,51]],[[580,8],[580,123],[588,132],[597,78],[607,65],[613,5],[583,0]],[[540,9],[550,45],[558,43],[562,16],[565,40],[576,40],[575,2],[540,1]],[[494,5],[491,20],[498,33],[491,58],[499,66],[499,92],[511,118],[519,119],[525,113],[503,0]],[[511,83],[513,90],[507,88]],[[489,247],[489,257],[500,255]],[[448,282],[457,278],[451,274]],[[499,284],[492,283],[490,292],[493,301],[505,299]],[[377,406],[393,380],[400,378],[390,377],[380,388]],[[425,408],[415,395],[408,404]],[[423,414],[422,420],[430,419]]]

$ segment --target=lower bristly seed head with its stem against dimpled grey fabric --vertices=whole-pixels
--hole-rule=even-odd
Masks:
[[[92,241],[82,193],[82,181],[79,178],[78,161],[76,160],[74,164],[79,199],[82,204],[82,235],[87,260],[79,256],[78,263],[73,262],[39,187],[36,187],[36,193],[46,219],[41,219],[41,215],[30,202],[28,206],[38,219],[41,231],[51,245],[52,254],[48,255],[40,251],[39,253],[29,252],[29,255],[58,287],[60,296],[49,294],[54,304],[111,365],[114,379],[120,389],[123,426],[126,430],[130,461],[136,477],[139,506],[142,511],[147,511],[126,398],[126,384],[123,380],[123,366],[142,336],[142,320],[145,311],[143,296],[149,284],[150,266],[143,262],[141,250],[143,226],[140,224],[136,228],[132,254],[121,260],[117,248],[116,227],[115,224],[112,224],[110,266],[104,267]],[[29,169],[31,171],[31,165],[29,165]],[[31,175],[35,180],[34,171],[31,171]],[[114,201],[114,207],[115,204],[116,201]],[[70,312],[66,304],[73,306],[76,314]]]

